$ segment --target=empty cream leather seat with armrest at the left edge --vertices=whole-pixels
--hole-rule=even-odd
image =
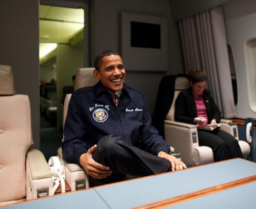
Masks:
[[[12,67],[0,65],[0,206],[52,189],[47,161],[39,150],[29,149],[32,144],[29,97],[15,95]]]

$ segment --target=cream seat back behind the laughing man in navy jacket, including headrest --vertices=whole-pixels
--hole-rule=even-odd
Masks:
[[[78,68],[77,69],[75,90],[82,87],[93,86],[98,82],[98,80],[93,75],[94,69],[95,68]],[[64,107],[63,107],[63,128],[64,128],[65,120],[67,117],[67,108],[68,108],[70,98],[71,98],[71,93],[66,94],[66,97],[64,100]],[[64,141],[64,136],[62,138],[62,141]]]

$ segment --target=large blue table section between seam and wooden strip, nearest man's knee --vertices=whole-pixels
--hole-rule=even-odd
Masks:
[[[256,175],[256,163],[233,159],[96,187],[113,209],[132,208]]]

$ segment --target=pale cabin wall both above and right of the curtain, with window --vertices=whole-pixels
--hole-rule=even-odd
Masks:
[[[174,21],[222,5],[227,42],[233,52],[238,88],[236,117],[256,117],[256,1],[169,0]],[[231,69],[233,70],[233,69]]]

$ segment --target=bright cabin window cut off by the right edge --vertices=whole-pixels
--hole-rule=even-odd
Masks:
[[[256,38],[244,42],[245,74],[247,81],[248,102],[250,109],[256,113]]]

